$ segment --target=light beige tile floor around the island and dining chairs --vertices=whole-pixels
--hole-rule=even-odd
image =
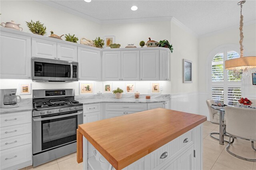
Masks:
[[[203,124],[203,169],[204,170],[256,170],[256,162],[248,162],[230,155],[226,151],[226,142],[220,145],[210,137],[211,132],[218,132],[218,125],[209,121]],[[217,136],[216,136],[217,137]],[[225,140],[228,140],[225,136]],[[246,158],[255,158],[256,152],[251,148],[250,141],[236,139],[230,146],[232,152]],[[76,153],[58,158],[33,168],[28,166],[22,170],[82,170],[82,163],[76,162]]]

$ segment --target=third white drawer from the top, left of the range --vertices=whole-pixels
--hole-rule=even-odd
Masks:
[[[32,133],[0,139],[0,146],[1,146],[0,150],[10,149],[10,148],[21,146],[24,144],[30,144],[31,142],[32,142]]]

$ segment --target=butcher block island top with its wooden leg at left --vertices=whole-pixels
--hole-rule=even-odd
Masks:
[[[77,161],[82,135],[120,170],[204,121],[206,116],[159,108],[78,125]]]

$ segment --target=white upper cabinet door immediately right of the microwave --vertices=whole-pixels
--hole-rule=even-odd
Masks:
[[[101,80],[100,51],[78,47],[78,77],[80,80]]]

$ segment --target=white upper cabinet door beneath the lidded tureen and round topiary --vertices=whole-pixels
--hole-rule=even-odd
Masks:
[[[159,50],[140,51],[140,80],[159,80]]]

